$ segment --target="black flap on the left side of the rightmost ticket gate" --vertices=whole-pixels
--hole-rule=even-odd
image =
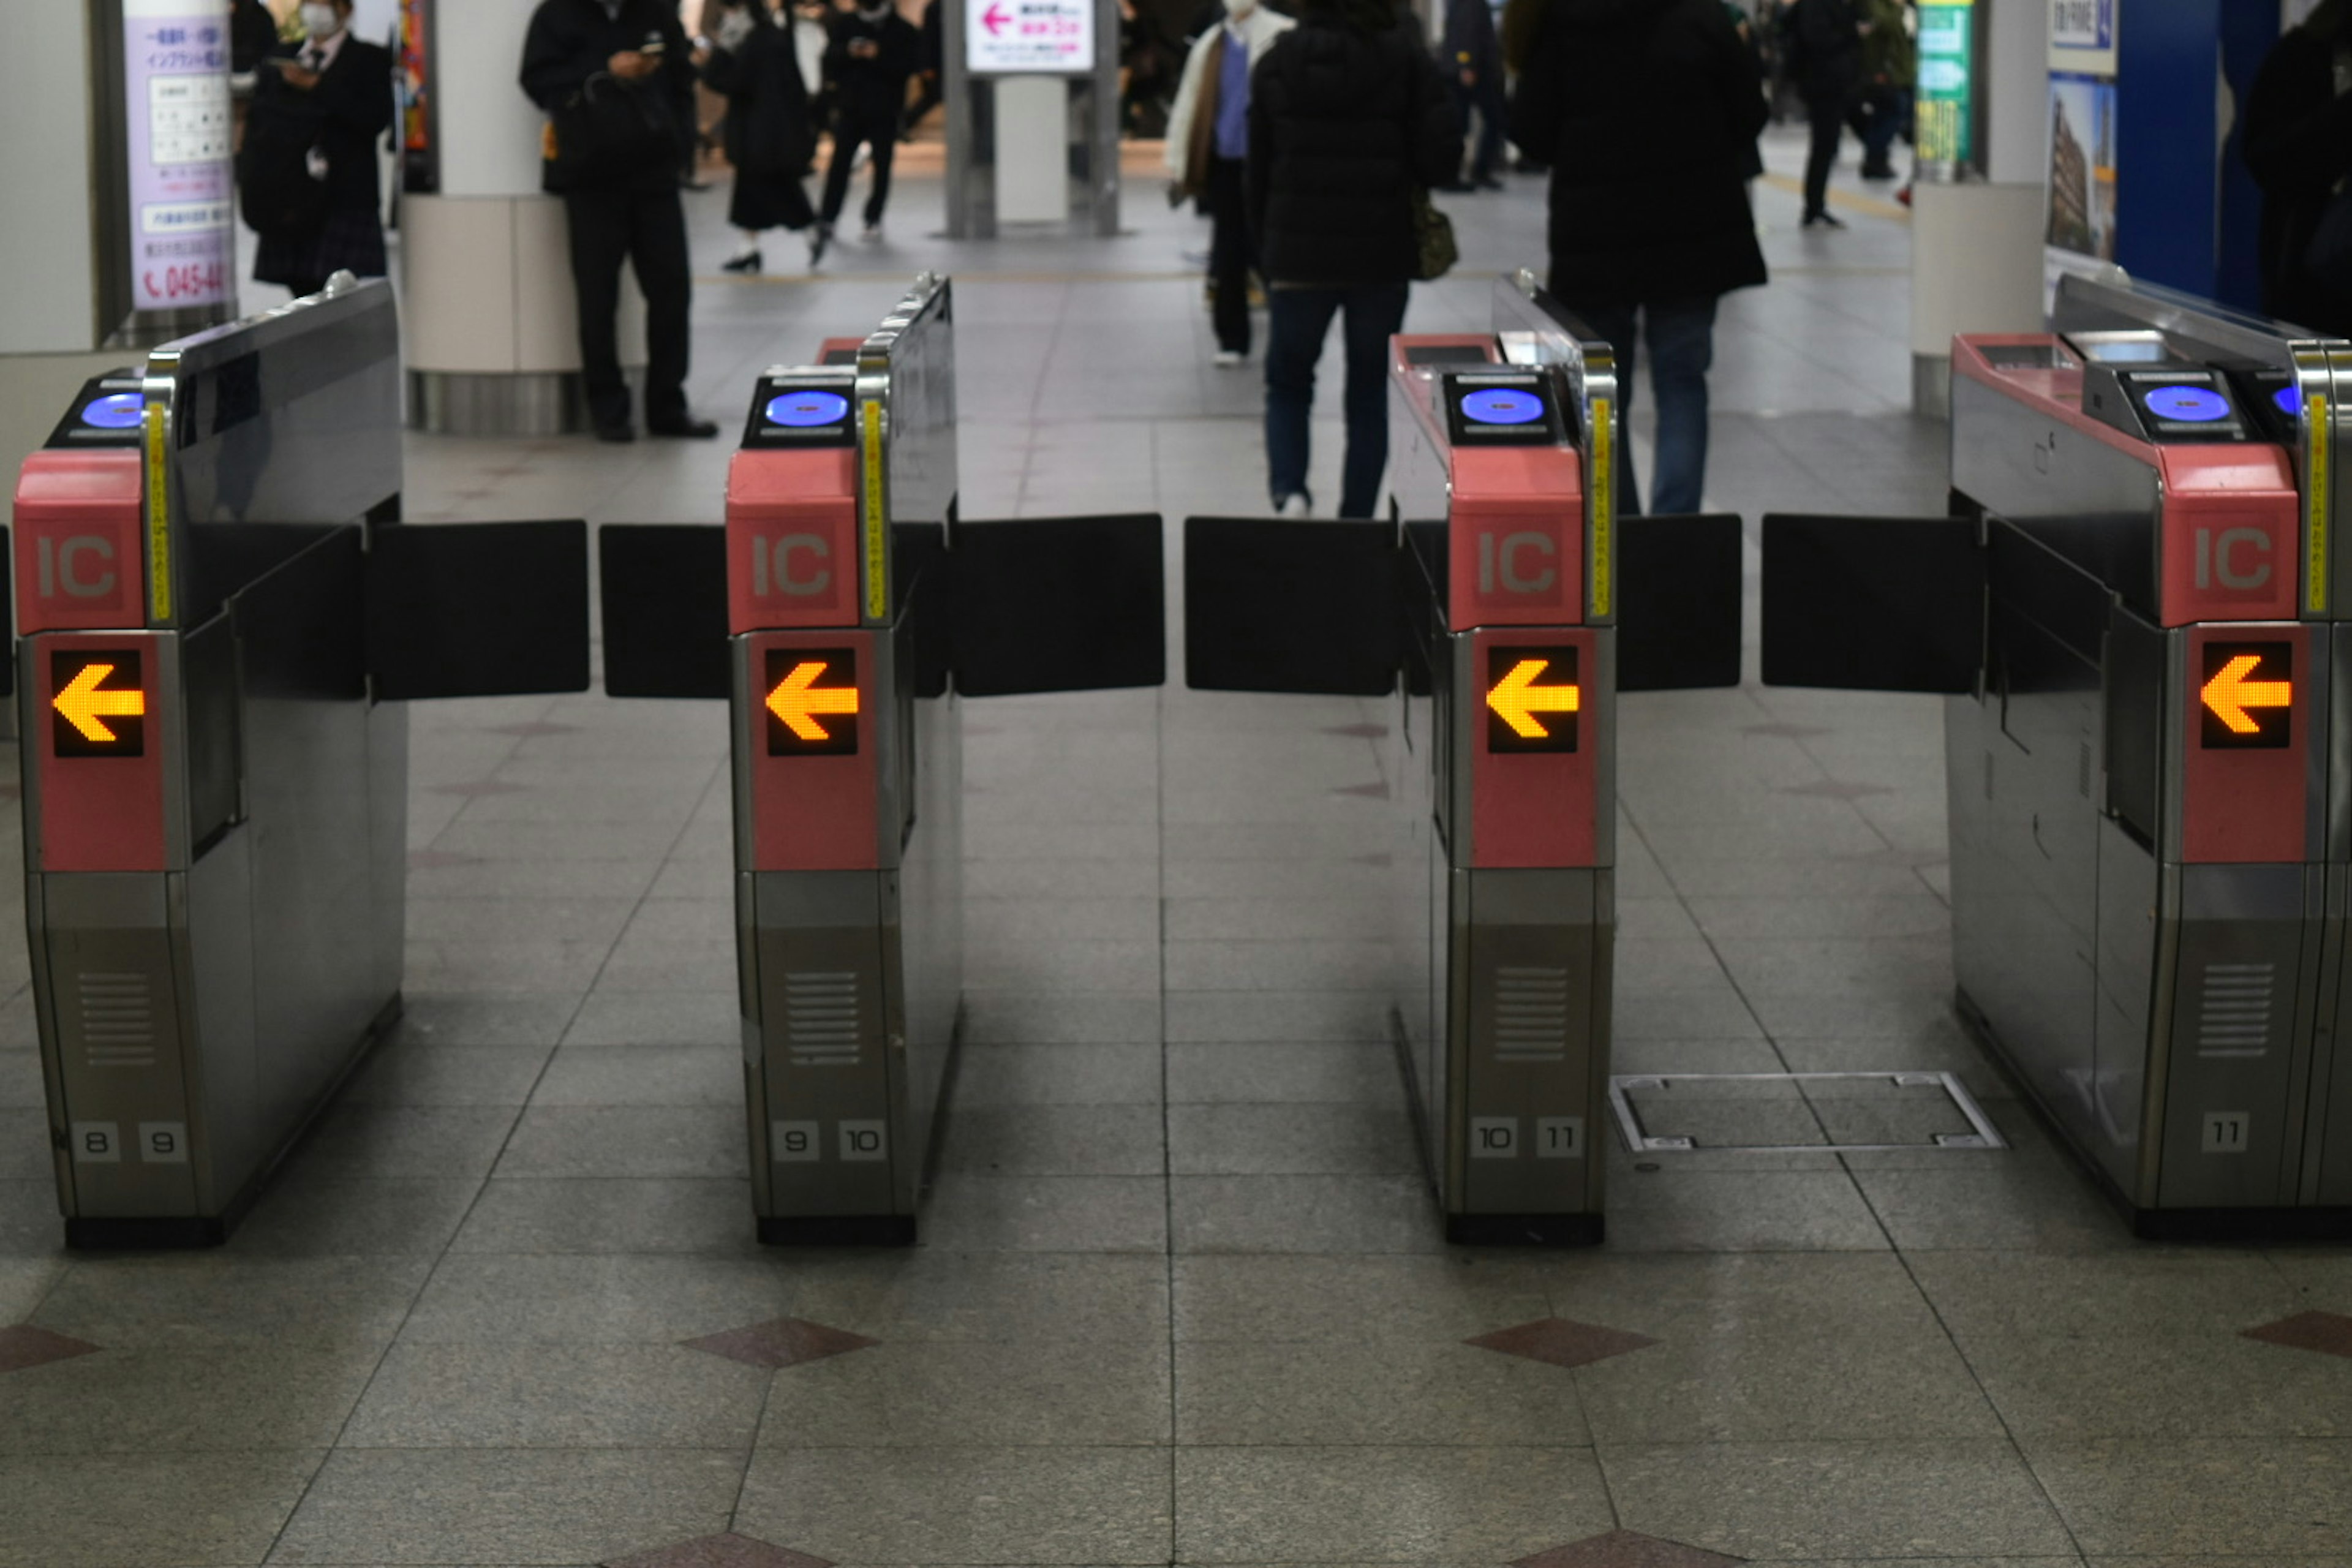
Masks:
[[[1973,517],[1764,520],[1764,684],[1976,691],[1985,550]]]

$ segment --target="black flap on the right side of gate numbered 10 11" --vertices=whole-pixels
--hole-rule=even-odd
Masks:
[[[1618,520],[1618,691],[1740,684],[1740,520]]]

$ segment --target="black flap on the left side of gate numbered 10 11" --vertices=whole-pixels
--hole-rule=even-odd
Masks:
[[[1392,522],[1185,517],[1185,686],[1388,696],[1399,583]]]

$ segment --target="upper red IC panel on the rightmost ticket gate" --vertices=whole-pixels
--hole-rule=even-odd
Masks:
[[[2303,498],[2279,447],[2157,447],[2164,625],[2286,621],[2303,581]]]

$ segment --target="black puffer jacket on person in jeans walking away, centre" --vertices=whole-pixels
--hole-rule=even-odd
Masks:
[[[1315,9],[1249,78],[1249,233],[1275,284],[1411,282],[1414,188],[1461,169],[1454,92],[1411,26]]]

